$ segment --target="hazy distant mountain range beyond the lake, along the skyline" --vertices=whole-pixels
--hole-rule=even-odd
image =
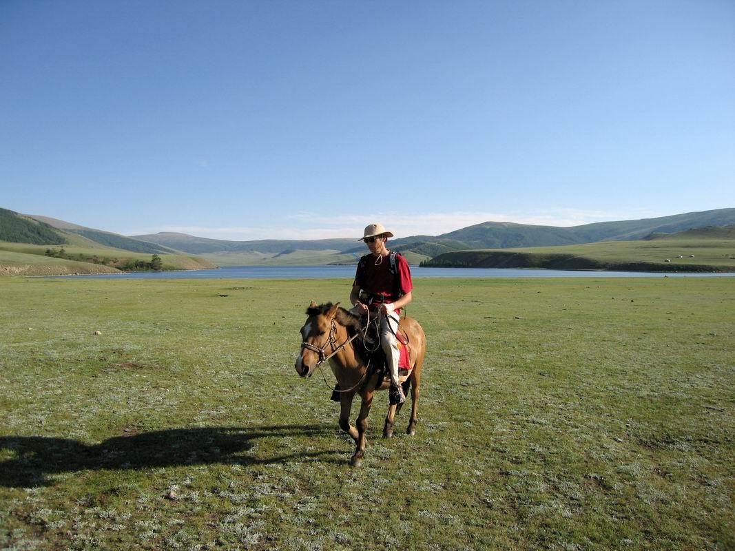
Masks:
[[[2,213],[0,220],[3,221],[0,226],[0,240],[6,241],[40,240],[38,242],[58,244],[65,242],[65,239],[72,242],[85,239],[87,242],[138,253],[182,252],[202,255],[218,264],[356,262],[357,257],[366,252],[365,245],[358,242],[356,237],[331,240],[229,241],[173,232],[125,237],[46,216],[18,215],[7,210],[0,212]],[[392,250],[409,255],[413,259],[412,262],[420,262],[452,251],[641,240],[652,235],[673,234],[693,228],[732,225],[735,225],[735,209],[688,212],[642,220],[600,222],[570,228],[484,222],[438,236],[416,235],[393,239],[389,246]],[[320,254],[312,255],[313,259],[310,259],[309,251],[318,251]],[[328,258],[333,260],[327,260]]]

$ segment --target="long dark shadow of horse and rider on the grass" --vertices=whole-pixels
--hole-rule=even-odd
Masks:
[[[0,486],[46,486],[47,477],[84,469],[146,469],[197,464],[272,464],[304,461],[323,455],[343,455],[337,450],[258,457],[258,439],[285,436],[326,436],[332,430],[320,425],[273,427],[176,428],[167,431],[116,436],[87,445],[53,436],[0,436],[0,453],[14,457],[0,461]],[[322,461],[339,463],[340,458]]]

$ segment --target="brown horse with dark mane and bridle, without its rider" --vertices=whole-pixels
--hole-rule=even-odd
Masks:
[[[306,309],[309,316],[301,328],[301,352],[296,359],[295,369],[301,377],[309,377],[315,368],[324,361],[329,365],[340,385],[340,428],[348,433],[355,441],[356,449],[351,464],[359,467],[365,457],[365,431],[368,428],[368,414],[373,404],[373,393],[376,390],[390,388],[390,380],[382,373],[373,373],[368,370],[370,363],[365,354],[360,336],[360,319],[347,310],[340,308],[340,304],[331,303],[317,306],[315,302]],[[405,334],[408,340],[410,362],[412,370],[409,372],[411,385],[411,419],[406,433],[416,433],[418,397],[420,393],[421,367],[426,353],[426,335],[423,329],[410,317],[401,319],[399,333]],[[357,339],[357,340],[356,340]],[[360,396],[360,413],[355,422],[356,428],[350,425],[350,411],[355,395]],[[401,411],[401,406],[390,406],[385,418],[383,437],[393,435],[393,421],[395,414]]]

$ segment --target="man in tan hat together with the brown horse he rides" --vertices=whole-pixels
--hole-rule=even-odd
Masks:
[[[301,351],[294,364],[301,377],[310,377],[314,370],[327,361],[337,379],[332,400],[340,402],[340,428],[355,442],[355,453],[350,463],[354,467],[362,464],[365,457],[368,430],[368,415],[376,390],[390,388],[390,402],[385,418],[383,437],[391,438],[395,415],[406,401],[404,391],[411,390],[411,417],[406,433],[416,433],[418,401],[421,386],[421,370],[426,355],[426,334],[421,325],[411,317],[399,318],[401,309],[411,302],[411,270],[398,253],[388,251],[385,244],[393,237],[380,224],[365,228],[365,241],[370,254],[363,256],[357,264],[350,300],[351,311],[340,308],[339,303],[318,305],[312,300],[306,309],[306,322],[301,327]],[[368,316],[370,324],[365,329],[362,314]],[[399,323],[400,319],[400,323]],[[370,342],[368,330],[377,322],[378,338],[390,370],[390,383],[383,370],[373,370],[370,356],[374,350],[366,347]],[[398,350],[398,334],[401,335],[401,350]],[[356,340],[364,336],[365,341]],[[378,359],[373,367],[377,366]],[[399,361],[403,365],[399,366]],[[406,370],[404,387],[399,379]],[[325,378],[326,381],[326,378]],[[353,400],[360,398],[360,412],[355,425],[350,423]]]

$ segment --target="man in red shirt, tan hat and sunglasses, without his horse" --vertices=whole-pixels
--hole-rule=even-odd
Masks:
[[[398,323],[401,309],[411,302],[413,284],[409,263],[398,253],[391,253],[386,243],[393,237],[382,224],[370,224],[359,241],[368,245],[370,254],[357,263],[350,302],[354,314],[377,314],[380,323],[380,342],[390,371],[390,403],[406,401],[398,381]]]

